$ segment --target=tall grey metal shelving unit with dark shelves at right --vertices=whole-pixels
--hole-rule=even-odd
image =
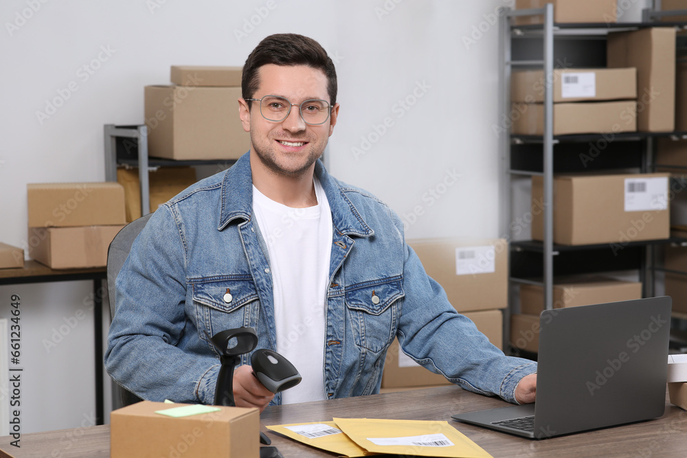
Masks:
[[[658,2],[660,3],[660,2]],[[644,296],[653,295],[655,247],[665,243],[681,243],[684,239],[649,240],[629,242],[620,253],[609,255],[609,244],[567,247],[553,242],[553,176],[554,172],[585,172],[580,166],[579,144],[602,139],[602,135],[553,135],[553,93],[554,65],[567,62],[566,56],[574,56],[574,67],[605,67],[605,41],[612,31],[638,30],[642,27],[685,27],[686,23],[652,21],[666,16],[687,15],[687,11],[661,12],[660,4],[644,11],[642,23],[600,23],[559,24],[554,23],[554,7],[551,3],[544,8],[532,10],[510,10],[504,8],[499,16],[499,62],[501,85],[500,111],[504,122],[500,137],[502,155],[501,227],[510,242],[510,284],[535,284],[542,286],[545,308],[553,306],[553,277],[571,273],[582,273],[589,268],[590,259],[594,267],[588,272],[617,270],[638,270],[644,284]],[[543,16],[543,23],[536,25],[513,25],[512,19],[521,16]],[[585,46],[581,46],[581,42]],[[678,47],[687,47],[682,38]],[[581,48],[584,48],[581,51]],[[541,58],[540,58],[541,56]],[[569,63],[569,62],[568,62]],[[511,135],[509,114],[510,76],[513,69],[543,68],[544,133],[540,136]],[[604,154],[594,161],[595,170],[634,168],[640,172],[654,170],[653,143],[655,137],[675,135],[687,137],[687,133],[616,133],[608,142]],[[554,154],[554,149],[556,154]],[[577,168],[577,169],[576,169]],[[543,241],[511,240],[510,225],[513,220],[511,192],[513,179],[517,176],[543,177]],[[509,308],[510,312],[510,308]],[[508,319],[509,314],[506,315]],[[506,321],[506,323],[508,320]],[[506,341],[510,328],[505,326]]]

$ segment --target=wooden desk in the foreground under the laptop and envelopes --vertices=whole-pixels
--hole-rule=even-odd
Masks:
[[[687,411],[671,405],[667,397],[666,413],[660,419],[541,441],[451,420],[453,413],[504,406],[502,400],[446,386],[268,407],[262,413],[261,424],[262,431],[286,458],[335,455],[294,442],[264,425],[317,422],[332,417],[447,420],[494,457],[687,457]],[[90,426],[26,434],[21,436],[21,448],[10,446],[12,437],[0,437],[0,457],[109,457],[109,431],[109,426]]]

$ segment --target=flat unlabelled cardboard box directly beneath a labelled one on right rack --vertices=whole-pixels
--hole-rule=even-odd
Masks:
[[[637,130],[637,103],[573,102],[554,104],[554,135],[620,133]],[[543,104],[514,103],[511,132],[544,135]]]

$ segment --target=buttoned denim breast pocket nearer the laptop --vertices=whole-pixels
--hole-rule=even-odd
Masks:
[[[355,343],[381,352],[396,335],[398,299],[404,296],[401,279],[383,279],[346,288],[346,308]]]

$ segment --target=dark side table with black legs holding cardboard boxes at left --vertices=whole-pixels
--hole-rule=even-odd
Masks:
[[[102,363],[102,297],[106,285],[102,280],[107,278],[104,267],[52,269],[36,261],[26,261],[23,268],[0,268],[0,285],[74,282],[91,280],[93,282],[93,352],[95,357],[95,424],[102,424],[104,419],[104,367]]]

